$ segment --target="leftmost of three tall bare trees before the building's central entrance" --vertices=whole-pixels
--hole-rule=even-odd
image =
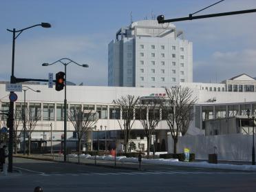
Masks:
[[[139,97],[138,96],[122,96],[121,98],[118,98],[117,100],[114,100],[114,103],[116,105],[120,106],[120,111],[122,112],[122,120],[123,120],[123,127],[118,120],[120,129],[123,129],[125,139],[124,139],[124,145],[125,145],[125,153],[127,153],[128,144],[129,144],[129,137],[131,128],[134,125],[134,109],[136,104],[138,103]]]

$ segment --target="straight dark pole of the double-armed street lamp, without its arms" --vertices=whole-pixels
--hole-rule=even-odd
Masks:
[[[67,161],[67,64],[65,65],[65,96],[64,96],[64,162]]]

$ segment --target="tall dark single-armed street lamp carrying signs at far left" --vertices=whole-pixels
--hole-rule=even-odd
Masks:
[[[22,30],[16,30],[13,28],[13,30],[8,30],[8,32],[12,32],[12,75],[10,76],[10,83],[16,83],[15,82],[15,76],[14,76],[14,55],[15,55],[15,40],[17,37],[25,30],[28,30],[30,28],[34,28],[36,26],[41,26],[43,28],[50,28],[51,25],[50,23],[41,23],[41,24],[36,24],[32,25],[28,28],[23,28]],[[18,33],[16,35],[16,33]],[[10,92],[12,94],[14,92]],[[8,156],[8,171],[12,172],[12,148],[13,148],[13,110],[14,110],[14,101],[10,101],[9,105],[9,118],[10,118],[10,129],[9,129],[9,156]]]

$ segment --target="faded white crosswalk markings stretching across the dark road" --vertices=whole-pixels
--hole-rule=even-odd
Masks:
[[[92,176],[92,175],[98,175],[98,176],[104,176],[104,175],[182,175],[182,174],[205,174],[205,175],[216,175],[216,174],[256,174],[253,172],[225,172],[225,171],[134,171],[134,172],[103,172],[103,173],[43,173],[39,175],[43,175],[45,177],[48,176]]]

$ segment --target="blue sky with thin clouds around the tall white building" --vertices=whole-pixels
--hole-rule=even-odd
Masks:
[[[164,14],[165,19],[188,17],[217,0],[1,0],[0,81],[9,81],[12,32],[41,22],[52,28],[31,28],[16,39],[14,76],[48,78],[64,71],[61,58],[88,64],[67,65],[67,81],[107,85],[107,45],[132,21]],[[255,9],[255,0],[225,0],[195,15]],[[131,17],[132,16],[132,17]],[[193,42],[193,81],[216,83],[239,74],[256,74],[256,12],[173,23]]]

